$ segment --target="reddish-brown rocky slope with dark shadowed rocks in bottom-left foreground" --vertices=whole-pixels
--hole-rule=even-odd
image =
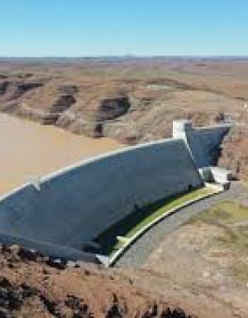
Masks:
[[[139,288],[132,273],[65,264],[16,245],[1,245],[0,266],[0,317],[197,317]]]

